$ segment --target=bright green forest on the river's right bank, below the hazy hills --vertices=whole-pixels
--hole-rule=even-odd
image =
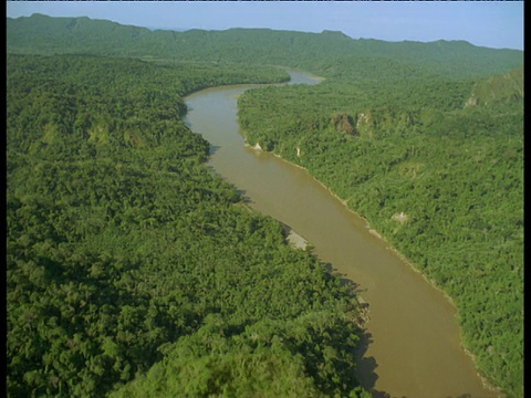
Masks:
[[[442,287],[478,368],[522,397],[523,70],[476,83],[389,80],[375,92],[332,78],[251,91],[240,125]]]

